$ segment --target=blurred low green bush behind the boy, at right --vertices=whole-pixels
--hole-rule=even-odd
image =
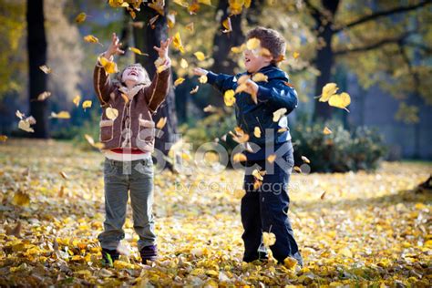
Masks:
[[[324,134],[324,127],[332,133]],[[298,123],[292,135],[295,163],[302,163],[305,156],[313,172],[375,170],[386,155],[384,139],[377,130],[357,127],[350,132],[336,120]]]

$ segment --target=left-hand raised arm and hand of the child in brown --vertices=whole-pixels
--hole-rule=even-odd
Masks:
[[[114,87],[111,84],[111,80],[107,71],[105,71],[105,68],[100,63],[100,57],[105,57],[109,61],[113,61],[114,55],[125,53],[123,50],[120,50],[120,46],[121,43],[118,43],[118,36],[113,33],[112,42],[108,46],[108,50],[98,57],[98,62],[96,63],[96,67],[93,71],[93,85],[95,87],[95,92],[98,96],[100,105],[102,106],[108,104],[109,95],[114,90]]]

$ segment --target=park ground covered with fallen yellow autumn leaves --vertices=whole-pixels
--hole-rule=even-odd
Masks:
[[[0,144],[1,286],[430,286],[431,194],[413,191],[427,180],[430,164],[293,175],[290,217],[302,270],[241,261],[241,171],[159,173],[159,261],[139,264],[129,210],[129,257],[105,269],[97,242],[104,220],[102,161],[97,151],[53,140]]]

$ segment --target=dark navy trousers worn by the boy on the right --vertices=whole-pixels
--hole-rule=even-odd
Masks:
[[[303,259],[288,218],[290,204],[288,183],[294,163],[293,148],[291,147],[281,158],[284,165],[281,167],[274,162],[273,172],[263,176],[262,185],[257,190],[253,188],[255,179],[252,175],[248,175],[251,174],[249,170],[254,170],[254,165],[259,165],[261,170],[266,170],[266,160],[246,162],[247,169],[244,176],[246,194],[242,198],[241,208],[244,229],[242,234],[243,261],[252,262],[267,257],[262,243],[262,232],[266,231],[273,232],[276,236],[276,242],[270,246],[270,249],[278,262],[283,262],[286,257],[290,256],[303,266]]]

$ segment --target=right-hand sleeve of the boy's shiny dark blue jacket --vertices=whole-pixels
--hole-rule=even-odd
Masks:
[[[286,114],[291,113],[298,105],[295,89],[286,86],[281,80],[274,80],[272,87],[259,86],[257,98],[274,110],[286,108]]]

